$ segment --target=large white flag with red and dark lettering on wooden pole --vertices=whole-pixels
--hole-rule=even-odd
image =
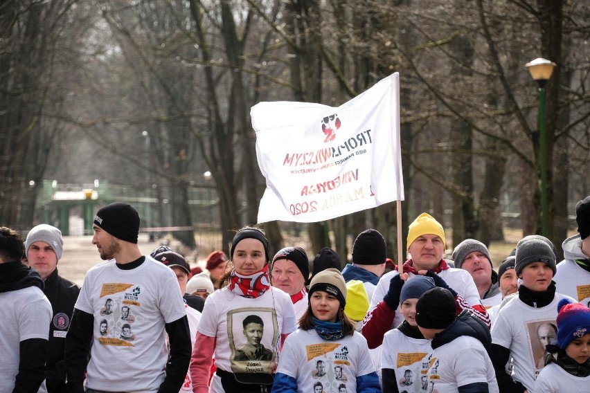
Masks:
[[[260,102],[251,109],[267,189],[258,222],[315,222],[404,200],[400,75],[340,107]]]

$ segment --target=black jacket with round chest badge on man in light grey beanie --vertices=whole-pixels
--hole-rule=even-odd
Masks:
[[[64,349],[75,301],[80,288],[57,273],[57,268],[45,280],[45,295],[51,302],[53,318],[49,327],[46,360],[46,386],[48,393],[66,391],[66,365]]]

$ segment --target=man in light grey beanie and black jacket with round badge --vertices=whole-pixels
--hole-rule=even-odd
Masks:
[[[25,250],[29,266],[34,268],[45,282],[44,293],[53,309],[45,373],[47,392],[65,392],[66,333],[80,288],[57,273],[57,262],[64,250],[64,239],[59,229],[46,224],[35,226],[28,232]]]

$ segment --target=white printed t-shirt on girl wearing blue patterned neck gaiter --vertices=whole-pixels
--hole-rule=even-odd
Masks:
[[[352,336],[328,341],[315,330],[297,329],[285,340],[276,372],[297,380],[298,393],[314,392],[314,385],[322,392],[357,391],[357,376],[375,372],[365,338],[355,331]]]

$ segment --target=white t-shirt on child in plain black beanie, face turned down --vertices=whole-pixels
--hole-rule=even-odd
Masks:
[[[427,392],[457,392],[470,383],[487,383],[490,393],[499,392],[492,360],[477,338],[460,336],[433,349],[429,363]]]

